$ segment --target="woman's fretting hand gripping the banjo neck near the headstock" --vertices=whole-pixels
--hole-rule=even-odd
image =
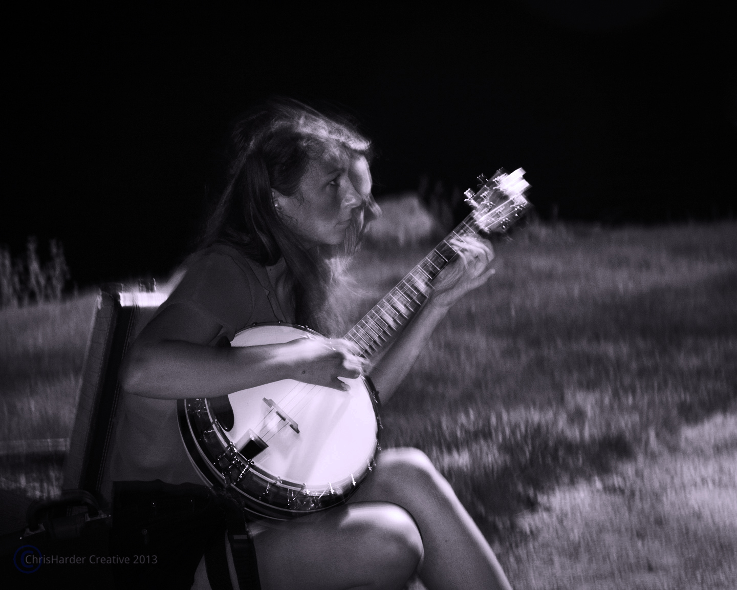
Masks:
[[[494,260],[494,249],[489,240],[478,237],[450,240],[458,256],[433,281],[433,293],[428,304],[436,308],[450,308],[462,296],[481,287],[495,273],[489,268]]]

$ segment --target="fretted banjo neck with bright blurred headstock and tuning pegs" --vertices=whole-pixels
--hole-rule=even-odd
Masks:
[[[499,171],[490,180],[479,176],[481,188],[467,190],[473,211],[430,254],[397,283],[343,338],[359,347],[358,355],[370,359],[411,322],[433,290],[432,282],[458,254],[455,240],[481,232],[504,232],[530,204],[523,193],[529,186],[524,170]]]

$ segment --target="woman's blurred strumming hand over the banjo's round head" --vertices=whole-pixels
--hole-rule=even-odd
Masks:
[[[349,340],[310,336],[289,341],[280,351],[291,369],[290,378],[344,392],[350,387],[338,377],[355,379],[368,362],[357,352],[357,345]]]

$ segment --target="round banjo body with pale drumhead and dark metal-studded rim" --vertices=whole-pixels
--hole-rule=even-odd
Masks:
[[[259,324],[231,345],[304,337],[322,338],[291,324]],[[380,420],[370,381],[343,381],[347,392],[285,379],[231,393],[227,429],[210,400],[180,400],[189,455],[209,482],[237,491],[259,516],[293,518],[345,502],[375,465]]]

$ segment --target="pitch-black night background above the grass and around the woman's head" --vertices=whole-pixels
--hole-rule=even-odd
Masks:
[[[0,245],[62,240],[80,286],[167,274],[228,122],[272,94],[354,114],[377,195],[522,166],[542,218],[733,217],[727,2],[396,4],[7,15]]]

